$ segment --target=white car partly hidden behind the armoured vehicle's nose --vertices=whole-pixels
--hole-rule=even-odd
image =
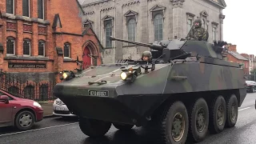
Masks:
[[[62,117],[74,117],[76,116],[67,108],[66,104],[62,102],[59,98],[54,100],[53,104],[54,115],[62,116]]]

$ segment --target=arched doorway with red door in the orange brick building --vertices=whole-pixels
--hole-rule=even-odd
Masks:
[[[82,54],[82,69],[83,70],[87,69],[90,66],[97,65],[97,58],[95,58],[94,56],[98,56],[98,52],[95,49],[96,48],[92,42],[89,42],[87,45],[85,45],[85,48],[84,48],[83,54]]]

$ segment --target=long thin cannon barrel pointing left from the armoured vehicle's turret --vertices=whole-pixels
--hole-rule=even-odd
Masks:
[[[142,42],[126,41],[124,39],[113,38],[111,36],[110,36],[110,40],[111,41],[119,41],[119,42],[127,42],[127,43],[131,43],[131,44],[138,45],[138,46],[146,46],[146,47],[150,47],[151,49],[154,49],[154,50],[163,50],[164,48],[166,48],[166,46],[162,46],[162,45],[156,45],[156,44],[150,45],[150,44],[142,43]]]

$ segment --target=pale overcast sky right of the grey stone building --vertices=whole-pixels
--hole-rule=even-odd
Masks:
[[[223,40],[237,45],[238,53],[256,55],[255,0],[225,0]]]

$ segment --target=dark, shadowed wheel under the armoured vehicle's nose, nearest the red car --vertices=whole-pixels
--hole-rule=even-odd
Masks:
[[[90,137],[101,137],[110,130],[111,122],[89,118],[79,118],[79,126],[83,134]]]

